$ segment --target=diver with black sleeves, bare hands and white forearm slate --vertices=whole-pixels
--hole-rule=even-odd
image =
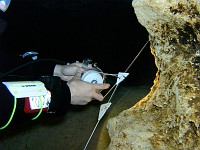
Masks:
[[[8,9],[10,1],[0,0],[3,12]],[[40,115],[63,115],[70,105],[103,101],[100,91],[110,86],[81,80],[82,74],[94,67],[89,61],[65,64],[34,60],[31,63],[36,66],[36,71],[27,78],[10,78],[6,73],[0,75],[0,129],[12,122],[35,120]]]

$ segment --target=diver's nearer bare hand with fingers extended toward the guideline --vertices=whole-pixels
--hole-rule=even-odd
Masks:
[[[108,89],[110,84],[85,82],[79,76],[80,73],[77,72],[74,78],[67,83],[71,91],[71,104],[86,105],[94,99],[102,101],[104,97],[100,91]]]

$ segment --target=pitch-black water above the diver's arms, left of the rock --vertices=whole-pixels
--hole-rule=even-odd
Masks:
[[[0,13],[1,73],[21,63],[20,54],[66,62],[90,58],[107,73],[126,70],[148,40],[131,0],[13,0]],[[0,30],[0,31],[2,31]],[[128,71],[126,83],[153,84],[149,44]]]

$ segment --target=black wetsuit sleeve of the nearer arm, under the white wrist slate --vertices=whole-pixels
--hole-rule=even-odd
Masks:
[[[52,65],[52,70],[55,65]],[[51,71],[52,71],[51,70]],[[51,72],[50,71],[50,72]],[[43,82],[47,90],[51,93],[51,102],[47,111],[43,112],[42,115],[63,115],[68,111],[68,107],[71,103],[71,93],[65,81],[62,81],[56,76],[40,76],[37,80]],[[7,80],[8,81],[8,80]],[[12,80],[16,81],[16,80]],[[28,81],[24,80],[23,81]],[[7,87],[0,82],[0,126],[5,125],[9,120],[14,107],[14,97],[9,92]],[[26,120],[31,120],[37,113],[25,113],[25,98],[18,98],[15,114],[11,121],[23,122]]]

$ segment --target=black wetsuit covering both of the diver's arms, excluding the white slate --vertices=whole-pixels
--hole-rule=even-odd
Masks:
[[[28,65],[18,70],[20,75],[28,76],[11,76],[10,74],[1,78],[0,82],[0,128],[4,126],[13,111],[14,97],[7,87],[2,84],[3,81],[41,81],[47,90],[51,92],[51,102],[47,111],[43,111],[41,116],[65,114],[70,105],[71,94],[65,81],[59,77],[53,76],[55,62],[43,61]],[[30,74],[31,67],[31,74]],[[29,71],[27,71],[27,68]],[[13,73],[11,73],[13,74]],[[17,99],[15,114],[10,124],[30,120],[36,113],[25,113],[25,98]]]

